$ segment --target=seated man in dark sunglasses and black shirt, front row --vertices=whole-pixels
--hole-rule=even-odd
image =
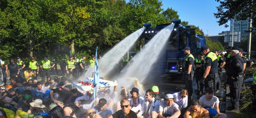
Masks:
[[[122,109],[107,118],[137,118],[136,113],[130,109],[130,102],[128,99],[125,98],[121,100],[120,104]]]

